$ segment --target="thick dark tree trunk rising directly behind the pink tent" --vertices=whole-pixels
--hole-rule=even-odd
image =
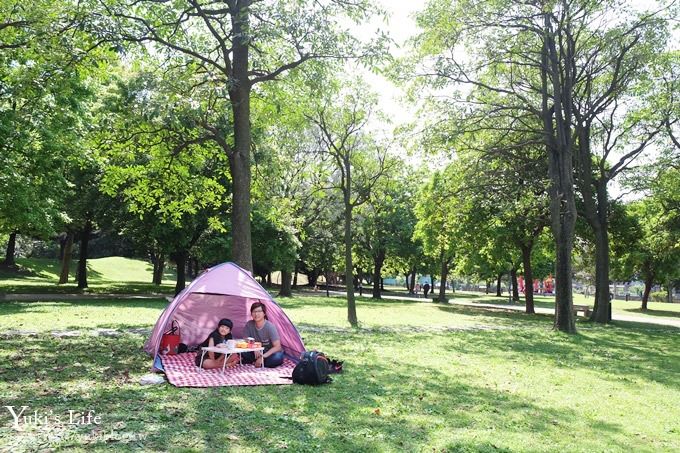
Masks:
[[[228,153],[232,179],[231,250],[233,261],[253,271],[250,234],[250,90],[249,70],[249,11],[250,2],[234,2],[231,12],[232,79],[228,82],[229,99],[234,121],[234,147]]]

